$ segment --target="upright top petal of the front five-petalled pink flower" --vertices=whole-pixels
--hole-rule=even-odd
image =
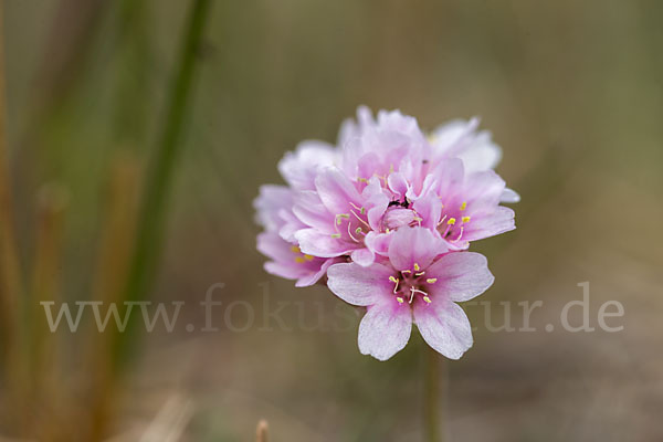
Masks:
[[[435,256],[446,252],[446,244],[424,228],[400,228],[389,243],[389,261],[397,270],[425,269]]]

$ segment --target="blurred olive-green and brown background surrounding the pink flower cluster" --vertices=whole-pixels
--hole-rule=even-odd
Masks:
[[[261,418],[275,441],[421,440],[421,339],[361,356],[358,313],[267,275],[255,251],[259,186],[360,104],[427,130],[480,116],[523,198],[518,229],[473,248],[496,276],[488,324],[511,302],[520,327],[516,303],[540,299],[537,332],[491,332],[467,307],[450,439],[663,440],[662,3],[209,3],[182,49],[193,0],[3,1],[2,440],[250,441]],[[127,280],[128,298],[186,302],[172,333],[48,332],[40,301],[122,301]],[[582,282],[597,330],[569,333]],[[607,301],[622,332],[598,328]]]

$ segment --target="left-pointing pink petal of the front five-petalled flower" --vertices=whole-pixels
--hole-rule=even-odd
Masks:
[[[362,267],[355,263],[334,264],[327,270],[327,286],[346,303],[372,305],[382,298],[392,298],[392,269],[382,264]]]

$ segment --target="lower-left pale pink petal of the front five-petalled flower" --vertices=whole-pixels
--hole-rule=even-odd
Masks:
[[[359,351],[387,360],[406,347],[411,333],[412,313],[408,304],[376,304],[359,324]]]

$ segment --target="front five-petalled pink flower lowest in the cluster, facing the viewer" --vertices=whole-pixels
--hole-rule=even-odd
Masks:
[[[379,360],[400,351],[412,324],[436,351],[459,359],[472,346],[470,322],[456,302],[472,299],[493,284],[486,259],[472,252],[445,253],[443,240],[424,228],[401,228],[388,259],[368,267],[334,264],[327,285],[341,299],[366,306],[359,350]]]

